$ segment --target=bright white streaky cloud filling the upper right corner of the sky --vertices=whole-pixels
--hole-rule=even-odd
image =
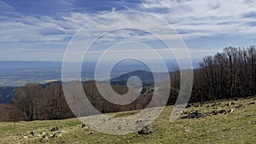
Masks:
[[[255,17],[245,17],[255,12],[255,6],[256,1],[248,0],[144,0],[141,9],[172,23],[183,38],[189,39],[218,34],[255,34],[255,28],[248,26]],[[160,9],[166,10],[161,12]]]

